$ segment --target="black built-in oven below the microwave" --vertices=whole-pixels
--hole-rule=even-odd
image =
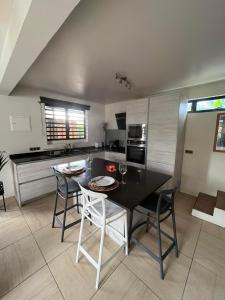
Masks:
[[[127,162],[140,167],[146,164],[146,142],[138,140],[127,140],[126,151]]]

